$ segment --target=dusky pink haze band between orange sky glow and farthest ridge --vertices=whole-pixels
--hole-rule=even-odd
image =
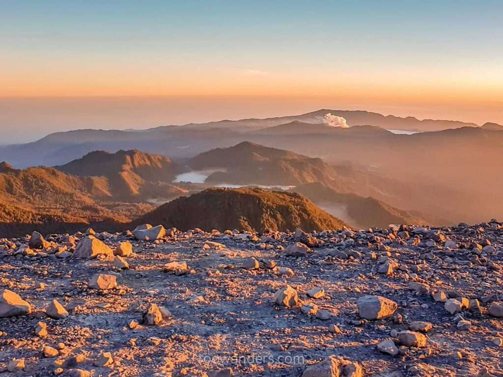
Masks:
[[[234,97],[68,97],[0,98],[0,145],[36,141],[75,129],[147,129],[224,119],[299,115],[320,109],[363,110],[383,115],[476,123],[503,123],[497,108],[373,104],[329,98]],[[464,111],[465,116],[461,116]],[[350,125],[351,126],[351,125]]]

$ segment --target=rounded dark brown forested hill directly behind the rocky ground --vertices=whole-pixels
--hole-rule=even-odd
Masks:
[[[166,203],[135,220],[131,227],[162,224],[182,230],[255,229],[305,231],[340,229],[345,224],[296,193],[263,189],[208,189]]]

